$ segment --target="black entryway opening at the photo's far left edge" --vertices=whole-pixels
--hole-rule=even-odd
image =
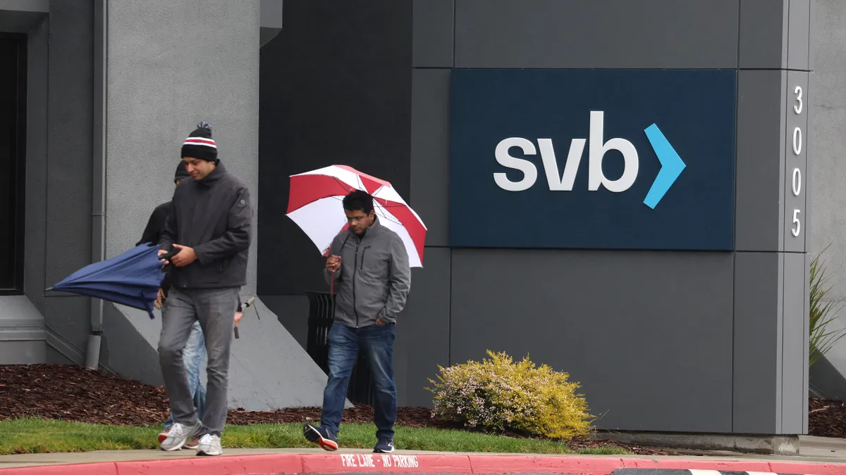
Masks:
[[[0,35],[0,295],[24,287],[26,40]]]

